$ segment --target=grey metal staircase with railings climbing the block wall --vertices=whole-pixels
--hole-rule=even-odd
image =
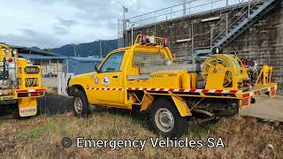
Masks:
[[[210,38],[207,42],[210,42],[210,49],[195,49],[194,52],[205,52],[210,54],[212,50],[218,48],[223,49],[230,42],[233,42],[239,35],[254,25],[259,19],[261,19],[266,13],[272,11],[283,0],[250,0],[249,2],[242,0],[242,8],[233,8],[228,12],[226,16],[223,16],[218,23],[213,27],[213,34],[211,31]],[[239,11],[240,10],[240,11]],[[235,14],[234,12],[238,12]],[[240,14],[240,15],[239,15]],[[223,27],[226,24],[226,27]]]

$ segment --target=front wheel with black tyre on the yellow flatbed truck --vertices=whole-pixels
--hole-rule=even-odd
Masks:
[[[76,117],[88,117],[88,98],[83,91],[77,91],[73,94],[73,114]]]

